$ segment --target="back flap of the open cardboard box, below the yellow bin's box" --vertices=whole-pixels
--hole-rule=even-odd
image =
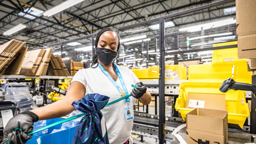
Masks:
[[[226,110],[218,110],[218,113],[216,113],[216,110],[198,108],[198,115],[200,116],[224,119],[227,116],[227,113]]]

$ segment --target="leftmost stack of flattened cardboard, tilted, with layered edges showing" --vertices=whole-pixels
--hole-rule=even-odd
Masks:
[[[26,42],[12,39],[9,42],[6,42],[5,44],[0,46],[0,71],[2,71],[2,73],[10,65],[10,63],[14,61],[14,56],[18,53],[18,51],[25,43]]]

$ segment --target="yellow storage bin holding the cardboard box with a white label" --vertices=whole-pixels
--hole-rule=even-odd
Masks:
[[[242,128],[246,118],[250,116],[245,91],[229,90],[222,93],[219,90],[221,84],[220,82],[181,82],[175,109],[180,111],[183,121],[186,121],[186,114],[193,110],[186,108],[188,93],[225,94],[228,123],[237,124]]]

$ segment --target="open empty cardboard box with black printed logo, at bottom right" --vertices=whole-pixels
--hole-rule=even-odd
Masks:
[[[226,144],[228,119],[226,110],[194,109],[186,114],[188,144]]]

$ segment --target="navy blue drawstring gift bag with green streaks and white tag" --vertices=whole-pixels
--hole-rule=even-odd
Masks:
[[[86,113],[77,125],[72,144],[109,144],[105,121],[101,124],[103,115],[100,111],[108,101],[109,97],[96,93],[87,94],[72,103],[76,110]]]

